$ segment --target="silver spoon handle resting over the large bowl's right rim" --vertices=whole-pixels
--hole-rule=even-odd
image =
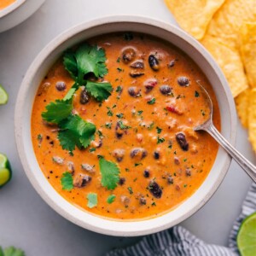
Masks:
[[[247,172],[248,176],[253,179],[253,182],[256,183],[256,166],[253,166],[253,164],[249,160],[247,160],[241,153],[239,153],[236,148],[234,148],[219,133],[214,125],[208,125],[207,127],[205,127],[204,130],[212,135],[212,137],[218,142],[218,144],[221,145],[234,160],[236,160],[237,164],[241,166],[241,168],[245,172]]]

